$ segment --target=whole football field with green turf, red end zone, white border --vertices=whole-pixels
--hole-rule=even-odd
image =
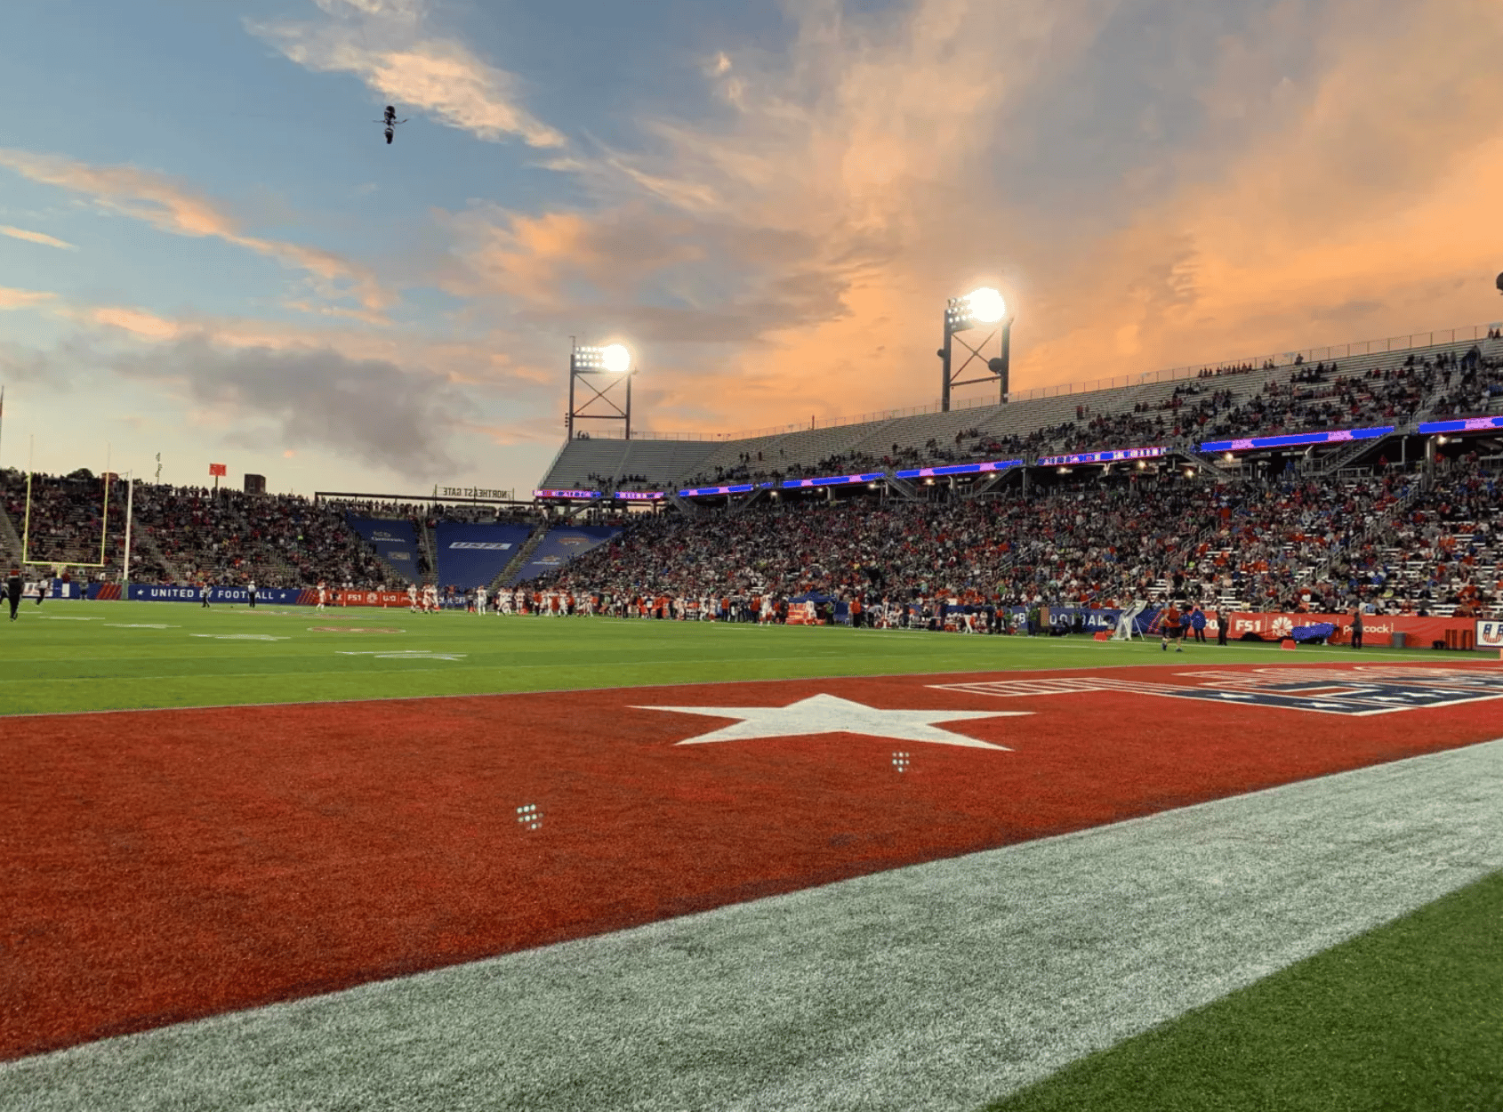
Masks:
[[[1503,1106],[1482,654],[0,637],[0,1107]]]

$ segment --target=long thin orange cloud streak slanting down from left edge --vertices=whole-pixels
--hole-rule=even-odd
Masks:
[[[93,165],[60,155],[0,149],[0,165],[33,182],[89,197],[93,203],[176,236],[212,237],[302,270],[329,298],[353,296],[367,310],[388,308],[394,295],[374,272],[334,251],[246,234],[219,203],[185,182],[134,165]]]

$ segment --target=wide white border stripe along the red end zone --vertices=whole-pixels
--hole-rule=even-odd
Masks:
[[[969,1110],[1503,867],[1500,816],[1492,741],[29,1058],[0,1106]]]

